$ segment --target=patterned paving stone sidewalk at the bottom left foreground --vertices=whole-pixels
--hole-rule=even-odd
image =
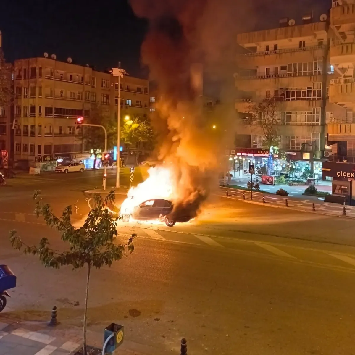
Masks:
[[[88,331],[88,344],[102,347],[103,334]],[[69,355],[82,344],[81,328],[49,327],[46,322],[13,320],[0,315],[0,355]],[[120,355],[146,355],[131,346]]]

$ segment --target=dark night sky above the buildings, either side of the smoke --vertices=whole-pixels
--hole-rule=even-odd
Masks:
[[[309,12],[307,8],[315,10],[318,21],[331,6],[331,0],[255,2],[262,4],[257,14],[259,28],[246,31],[277,27],[280,17],[297,21]],[[131,75],[147,74],[140,65],[140,45],[148,22],[135,17],[127,0],[1,0],[0,29],[7,61],[48,52],[58,60],[70,56],[74,63],[94,65],[97,70],[116,66],[120,60]]]

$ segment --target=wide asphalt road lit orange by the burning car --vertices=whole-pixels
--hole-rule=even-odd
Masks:
[[[90,202],[82,191],[101,178],[102,171],[48,174],[1,187],[0,261],[18,276],[7,314],[46,319],[56,304],[62,324],[81,324],[86,271],[45,269],[11,249],[8,231],[62,248],[32,214],[33,190],[56,213],[72,204],[80,226]],[[127,340],[156,354],[178,353],[181,337],[192,355],[355,354],[355,221],[211,198],[200,218],[174,228],[118,225],[119,240],[138,234],[135,251],[92,273],[90,329],[123,324]]]

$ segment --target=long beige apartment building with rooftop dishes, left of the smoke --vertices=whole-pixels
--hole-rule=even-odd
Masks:
[[[117,118],[118,78],[88,65],[48,58],[14,64],[15,160],[50,162],[87,157],[76,120],[88,119],[93,105]],[[147,116],[148,81],[126,75],[121,80],[121,115]]]

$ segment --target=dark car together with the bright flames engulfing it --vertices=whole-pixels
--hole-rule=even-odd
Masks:
[[[176,184],[173,169],[156,166],[148,169],[148,178],[127,193],[122,202],[120,217],[123,222],[165,223],[172,227],[175,223],[188,222],[195,217],[189,204],[176,208]]]

